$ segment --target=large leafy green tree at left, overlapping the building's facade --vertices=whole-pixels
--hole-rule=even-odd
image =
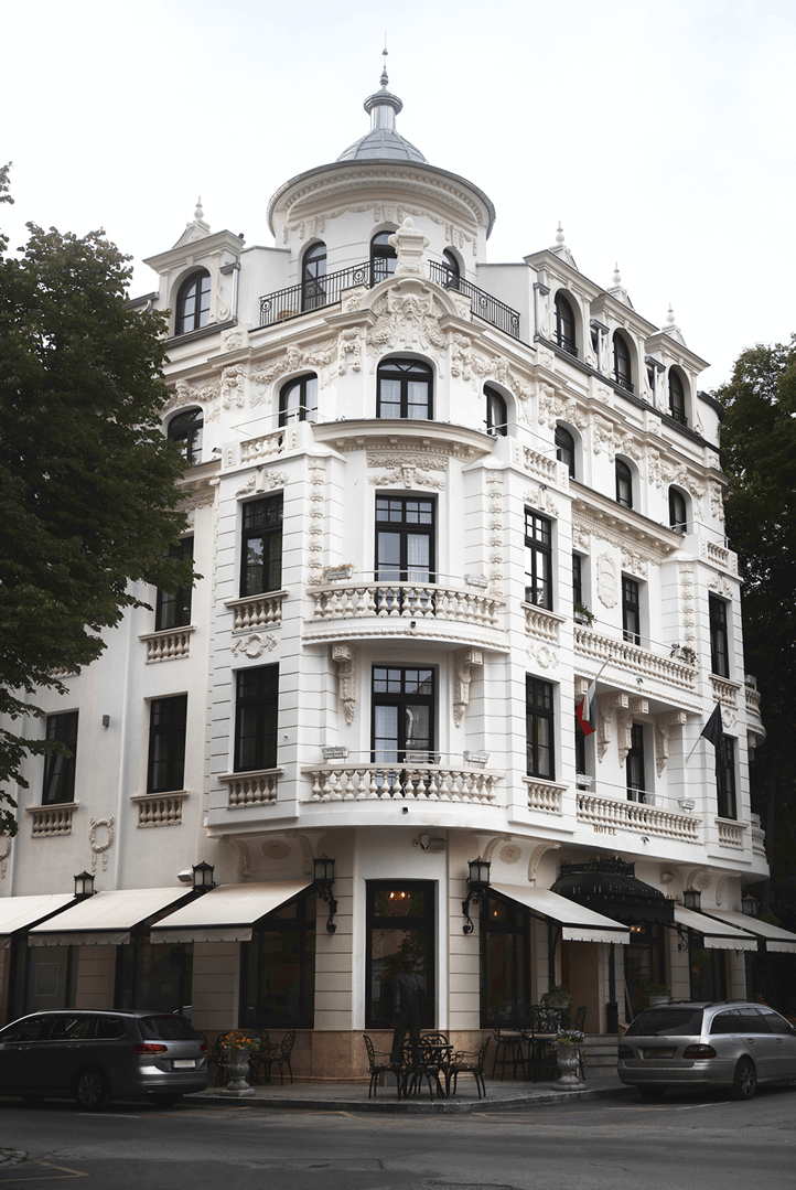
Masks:
[[[0,200],[8,195],[0,170]],[[162,318],[132,311],[130,269],[102,232],[29,224],[19,256],[0,237],[0,833],[26,754],[63,745],[31,733],[37,690],[88,665],[101,632],[142,606],[137,581],[190,584],[165,557],[184,528],[184,462],[161,415]],[[182,493],[184,495],[184,493]]]

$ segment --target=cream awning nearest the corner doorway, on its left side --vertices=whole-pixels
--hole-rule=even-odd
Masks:
[[[219,884],[159,921],[150,937],[153,942],[250,942],[255,922],[312,883]]]

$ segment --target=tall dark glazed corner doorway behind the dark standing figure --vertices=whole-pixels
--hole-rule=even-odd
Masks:
[[[366,1028],[393,1027],[394,981],[407,967],[410,967],[412,973],[425,983],[422,1028],[433,1028],[435,1003],[433,882],[369,881],[366,931]]]

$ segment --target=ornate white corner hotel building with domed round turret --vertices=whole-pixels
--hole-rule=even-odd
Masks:
[[[199,207],[148,262],[201,577],[142,590],[153,610],[44,696],[75,759],[27,764],[0,839],[7,1017],[192,1003],[211,1035],[295,1027],[297,1075],[355,1076],[403,953],[427,1025],[472,1041],[551,982],[591,1033],[648,982],[744,995],[770,931],[733,917],[766,872],[763,726],[706,364],[560,230],[488,264],[485,194],[395,131],[386,75],[365,108],[274,195],[270,245]],[[218,888],[194,896],[200,860]]]

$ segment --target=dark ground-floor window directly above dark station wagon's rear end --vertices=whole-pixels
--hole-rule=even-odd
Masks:
[[[176,1013],[190,1003],[194,948],[133,937],[117,947],[115,1008]]]

